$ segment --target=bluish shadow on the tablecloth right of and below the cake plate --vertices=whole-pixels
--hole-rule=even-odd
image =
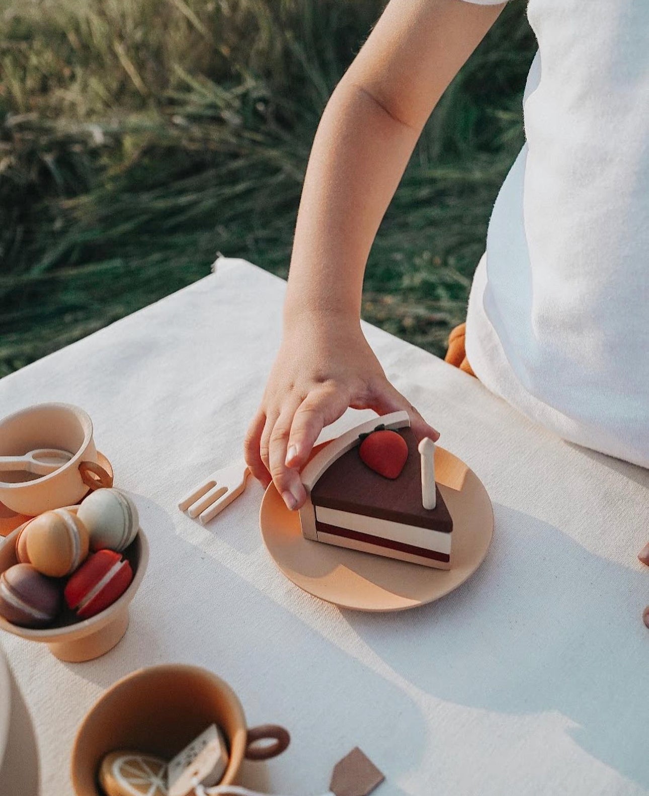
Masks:
[[[424,692],[497,713],[561,714],[589,755],[649,786],[647,572],[634,550],[624,568],[544,521],[494,510],[491,551],[463,587],[397,618],[343,611],[347,622]]]

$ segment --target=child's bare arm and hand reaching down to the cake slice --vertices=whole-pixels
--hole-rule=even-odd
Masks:
[[[463,0],[391,0],[323,113],[299,205],[283,340],[245,455],[289,508],[306,494],[299,467],[346,408],[407,409],[360,328],[374,236],[440,96],[502,10]],[[270,475],[269,475],[270,473]]]

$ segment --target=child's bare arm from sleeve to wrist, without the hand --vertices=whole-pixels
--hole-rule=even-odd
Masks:
[[[390,0],[315,136],[285,323],[323,313],[358,324],[369,249],[416,139],[500,10],[458,0]]]

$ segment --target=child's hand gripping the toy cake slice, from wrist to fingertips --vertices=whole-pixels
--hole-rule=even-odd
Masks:
[[[348,407],[405,409],[417,439],[440,436],[386,379],[358,320],[308,314],[289,324],[244,443],[252,474],[275,482],[289,509],[307,497],[299,470],[320,431]]]

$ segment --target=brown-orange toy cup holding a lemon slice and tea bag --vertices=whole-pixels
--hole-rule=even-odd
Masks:
[[[76,732],[70,770],[76,796],[102,796],[97,771],[108,752],[143,751],[170,760],[213,723],[229,747],[220,785],[232,784],[244,758],[276,757],[290,742],[287,730],[276,724],[248,730],[233,689],[207,669],[168,664],[123,677],[93,705]],[[263,739],[274,743],[253,746]]]

